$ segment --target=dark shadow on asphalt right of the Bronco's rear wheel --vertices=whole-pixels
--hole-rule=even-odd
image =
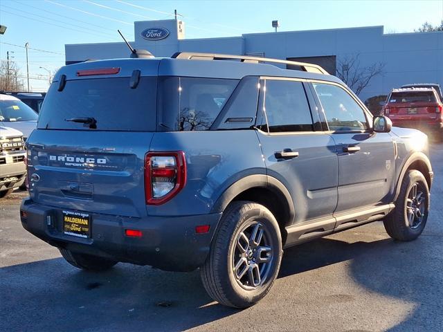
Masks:
[[[435,246],[432,238],[354,243],[319,239],[285,250],[279,277],[350,260],[350,277],[360,286],[413,304],[406,319],[388,331],[443,331],[443,245]]]

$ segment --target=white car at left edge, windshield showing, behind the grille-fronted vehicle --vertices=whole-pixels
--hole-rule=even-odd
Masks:
[[[35,129],[37,118],[37,113],[18,98],[0,94],[0,126],[21,131],[26,140]]]

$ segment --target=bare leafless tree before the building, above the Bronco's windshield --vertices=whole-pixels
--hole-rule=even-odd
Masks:
[[[338,60],[337,77],[346,83],[357,95],[370,83],[374,76],[382,75],[385,64],[374,62],[370,66],[361,66],[360,54]]]

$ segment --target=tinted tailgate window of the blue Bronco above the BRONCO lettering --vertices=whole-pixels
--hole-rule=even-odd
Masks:
[[[107,131],[152,131],[156,127],[156,77],[141,77],[136,89],[130,77],[69,80],[62,91],[51,84],[42,105],[39,129],[91,130],[72,118],[94,118]]]

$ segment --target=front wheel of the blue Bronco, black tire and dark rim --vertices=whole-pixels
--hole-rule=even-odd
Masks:
[[[414,200],[410,199],[410,197],[413,196],[413,192],[411,192],[411,190],[413,191],[413,187],[415,187],[415,185],[417,185],[416,192],[422,192],[421,196],[416,194],[416,196],[423,199],[422,203],[417,205],[419,208],[422,208],[422,212],[419,212],[419,215],[421,215],[422,218],[417,216],[418,212],[416,214],[413,212],[414,209],[410,208],[410,206],[415,206],[413,203]],[[401,181],[401,189],[397,201],[395,202],[395,209],[388,214],[386,219],[383,221],[386,232],[390,237],[392,237],[392,239],[399,241],[413,241],[417,239],[420,234],[422,234],[426,221],[428,220],[428,214],[428,183],[421,172],[411,169],[406,172],[403,180]],[[410,219],[413,219],[412,222]]]

